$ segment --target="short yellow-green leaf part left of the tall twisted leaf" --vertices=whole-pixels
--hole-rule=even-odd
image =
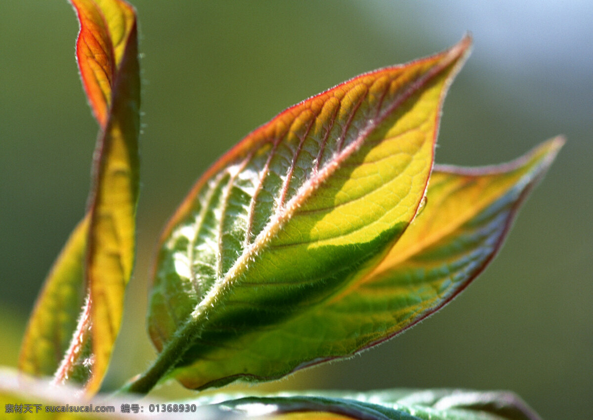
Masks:
[[[68,348],[84,300],[84,253],[88,217],[75,227],[45,280],[21,345],[18,367],[52,375]]]

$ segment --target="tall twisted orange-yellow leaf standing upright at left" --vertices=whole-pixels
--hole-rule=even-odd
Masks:
[[[120,0],[72,0],[81,24],[76,56],[101,126],[89,209],[87,283],[93,344],[87,391],[100,387],[132,275],[138,201],[140,83],[134,9]]]

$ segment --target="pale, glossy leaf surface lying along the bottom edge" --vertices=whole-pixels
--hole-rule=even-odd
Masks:
[[[130,397],[83,396],[72,386],[50,386],[44,379],[0,368],[0,406],[7,418],[31,411],[41,419],[155,418],[174,412],[180,419],[397,419],[397,420],[537,420],[537,414],[511,392],[469,390],[316,391],[272,396],[215,395],[164,402],[143,399],[138,413],[126,413]],[[36,406],[39,406],[37,409]],[[152,408],[151,408],[152,407]],[[58,412],[60,410],[60,412]],[[61,412],[64,410],[63,412]],[[74,411],[76,410],[76,412]],[[18,412],[17,412],[18,411]],[[32,416],[33,416],[32,415]],[[159,415],[157,415],[158,417]],[[164,415],[160,415],[164,416]]]

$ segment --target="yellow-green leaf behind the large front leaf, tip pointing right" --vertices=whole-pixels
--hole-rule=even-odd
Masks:
[[[216,386],[245,376],[265,380],[391,338],[440,309],[494,257],[519,204],[564,140],[487,168],[436,166],[427,204],[382,261],[316,306],[274,328],[210,348],[178,369],[182,383]],[[237,374],[243,369],[243,373]],[[208,383],[208,379],[211,380]]]

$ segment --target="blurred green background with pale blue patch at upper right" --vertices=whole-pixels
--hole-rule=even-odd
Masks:
[[[136,0],[141,30],[138,260],[106,387],[148,365],[147,273],[165,220],[219,155],[283,108],[361,72],[474,52],[444,106],[436,161],[509,161],[565,134],[498,258],[398,338],[261,389],[509,389],[544,418],[593,396],[593,4]],[[84,213],[97,132],[63,0],[0,2],[0,363]],[[161,395],[191,395],[176,384]]]

